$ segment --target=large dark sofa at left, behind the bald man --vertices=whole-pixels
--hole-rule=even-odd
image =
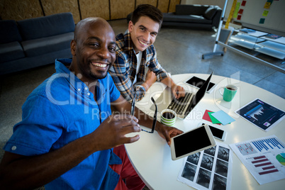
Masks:
[[[0,75],[72,57],[74,26],[72,13],[0,21]]]

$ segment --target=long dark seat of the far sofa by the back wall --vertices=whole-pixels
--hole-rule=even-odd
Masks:
[[[163,22],[177,23],[210,23],[211,21],[196,15],[176,15],[174,13],[163,13]],[[163,23],[162,23],[163,24]]]

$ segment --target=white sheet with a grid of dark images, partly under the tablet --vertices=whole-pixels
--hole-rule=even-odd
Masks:
[[[230,147],[217,142],[215,147],[185,157],[177,180],[195,189],[230,189],[232,169]]]

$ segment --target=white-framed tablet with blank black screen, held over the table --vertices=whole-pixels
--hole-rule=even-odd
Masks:
[[[215,145],[216,141],[208,125],[201,125],[172,138],[172,143],[170,144],[172,160],[193,155]]]

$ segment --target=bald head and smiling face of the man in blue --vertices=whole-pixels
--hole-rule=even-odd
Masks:
[[[116,59],[115,33],[106,21],[94,19],[82,25],[72,41],[75,74],[82,81],[103,79]]]

